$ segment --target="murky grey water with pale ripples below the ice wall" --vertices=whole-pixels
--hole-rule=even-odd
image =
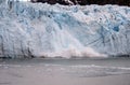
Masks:
[[[107,82],[101,81],[104,79],[114,81],[113,76],[118,75],[130,75],[130,58],[0,60],[0,85],[79,85],[80,83],[87,85],[88,82],[91,84],[94,81],[100,82],[101,85],[107,85]],[[100,81],[96,81],[95,79],[99,80],[99,77]],[[125,79],[127,79],[125,85],[129,85],[130,76],[121,76],[121,82],[126,82]],[[118,85],[119,82],[115,82],[116,80],[112,84]]]

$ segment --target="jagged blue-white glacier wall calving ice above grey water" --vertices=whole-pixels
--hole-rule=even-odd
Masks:
[[[130,55],[130,8],[0,1],[0,57]]]

